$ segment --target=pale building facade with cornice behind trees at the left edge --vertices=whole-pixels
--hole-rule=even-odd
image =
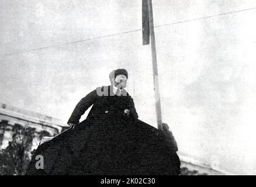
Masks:
[[[24,133],[33,131],[31,149],[34,150],[42,137],[56,136],[67,129],[68,125],[50,116],[0,103],[0,149],[8,147],[16,127]]]

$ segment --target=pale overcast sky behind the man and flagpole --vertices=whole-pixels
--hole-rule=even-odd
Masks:
[[[256,168],[255,7],[153,0],[163,121],[182,155],[243,174]],[[126,68],[140,119],[157,126],[141,1],[2,0],[0,65],[0,102],[64,122]]]

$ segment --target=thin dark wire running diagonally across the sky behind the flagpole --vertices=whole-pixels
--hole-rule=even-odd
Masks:
[[[192,21],[201,20],[201,19],[209,19],[209,18],[213,18],[213,17],[217,17],[217,16],[228,15],[228,14],[231,14],[231,13],[251,11],[251,10],[254,10],[254,9],[256,9],[256,7],[248,8],[248,9],[241,9],[241,10],[238,10],[238,11],[232,11],[232,12],[226,12],[226,13],[219,13],[219,14],[216,14],[216,15],[203,16],[203,17],[200,17],[200,18],[188,19],[188,20],[183,20],[183,21],[180,21],[180,22],[167,23],[167,24],[164,24],[164,25],[157,25],[157,26],[154,26],[154,28],[176,25],[176,24],[186,23],[186,22],[192,22]],[[90,39],[83,39],[83,40],[71,41],[71,42],[56,44],[56,45],[47,46],[47,47],[39,47],[39,48],[36,48],[36,49],[31,49],[31,50],[18,51],[18,52],[15,52],[15,53],[4,54],[0,57],[12,56],[14,54],[27,53],[27,52],[31,52],[31,51],[37,51],[37,50],[43,50],[43,49],[48,49],[48,48],[51,48],[51,47],[65,46],[65,45],[68,45],[68,44],[80,43],[80,42],[89,41],[89,40],[103,39],[105,37],[118,36],[118,35],[122,35],[122,34],[138,32],[138,31],[141,31],[141,30],[142,29],[130,30],[130,31],[122,32],[122,33],[108,34],[108,35],[105,35],[105,36],[93,37],[93,38],[90,38]]]

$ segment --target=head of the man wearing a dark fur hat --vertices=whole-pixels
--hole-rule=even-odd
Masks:
[[[113,70],[109,74],[109,79],[112,85],[123,89],[127,84],[128,72],[125,69]]]

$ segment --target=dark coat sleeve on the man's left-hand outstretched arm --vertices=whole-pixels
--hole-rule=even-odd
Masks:
[[[74,111],[72,112],[70,119],[67,123],[79,123],[79,119],[82,115],[84,115],[85,111],[94,104],[95,99],[97,97],[96,89],[92,92],[90,92],[87,96],[82,98],[77,106],[75,106]]]

